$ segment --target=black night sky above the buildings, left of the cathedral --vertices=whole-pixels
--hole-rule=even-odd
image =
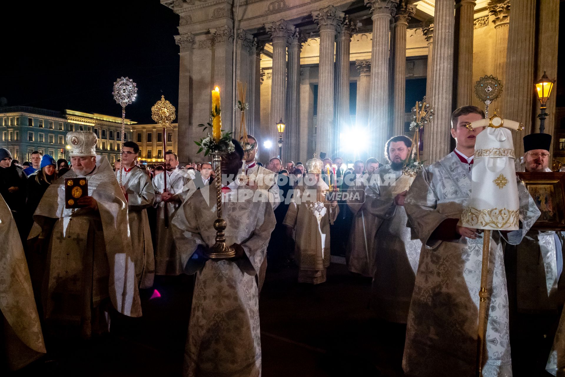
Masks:
[[[6,106],[121,117],[120,76],[137,84],[126,117],[154,123],[161,94],[177,107],[179,16],[159,0],[3,1],[0,97]],[[6,4],[8,3],[8,4]]]

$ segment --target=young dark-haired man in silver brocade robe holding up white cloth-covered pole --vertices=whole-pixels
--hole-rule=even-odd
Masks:
[[[540,211],[524,185],[516,181],[510,130],[471,127],[484,122],[484,116],[476,106],[453,112],[451,136],[457,147],[423,168],[406,196],[408,221],[423,244],[402,363],[411,376],[475,375],[483,255],[478,228],[486,223],[499,230],[492,231],[490,240],[492,290],[483,376],[512,375],[502,244],[519,244]],[[487,209],[483,203],[471,202],[471,198],[492,200],[495,196],[507,207]]]

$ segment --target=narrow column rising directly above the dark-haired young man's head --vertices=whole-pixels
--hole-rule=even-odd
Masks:
[[[457,57],[457,107],[471,105],[473,91],[473,18],[475,0],[455,2],[455,56]]]

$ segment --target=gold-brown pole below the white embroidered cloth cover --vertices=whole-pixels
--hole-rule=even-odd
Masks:
[[[488,319],[488,281],[489,281],[490,230],[483,235],[483,265],[481,267],[481,289],[479,291],[479,336],[477,337],[477,377],[483,376],[485,355],[486,323]]]

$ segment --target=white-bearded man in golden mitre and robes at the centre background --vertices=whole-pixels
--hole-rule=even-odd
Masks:
[[[308,173],[294,190],[283,224],[292,237],[295,231],[295,255],[298,257],[298,282],[319,284],[326,280],[329,267],[329,226],[339,212],[336,201],[326,201],[328,185],[321,179],[322,161],[306,162]]]

